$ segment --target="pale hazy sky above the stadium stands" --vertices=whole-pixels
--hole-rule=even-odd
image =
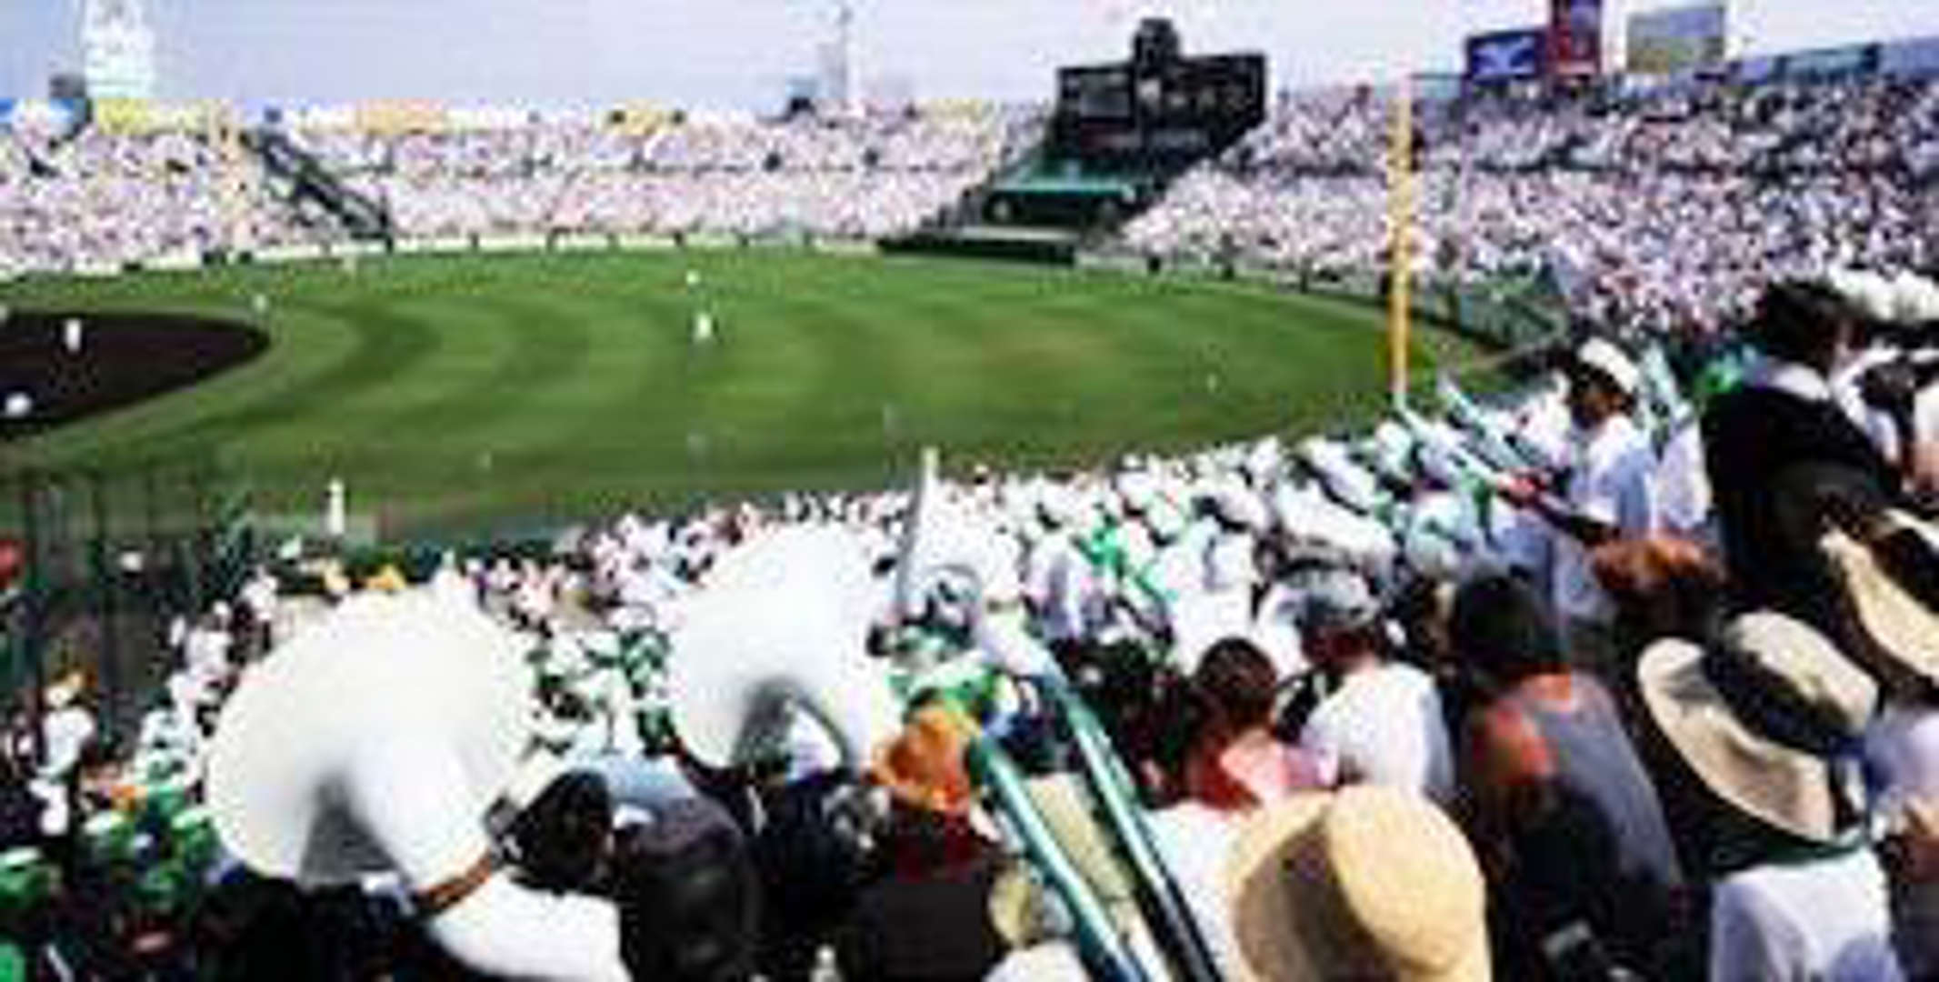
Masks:
[[[145,0],[159,95],[240,103],[774,109],[812,74],[834,0]],[[1605,0],[1607,2],[1607,0]],[[1747,52],[1939,35],[1939,0],[1735,0]],[[1631,0],[1631,10],[1671,6]],[[855,74],[921,99],[1049,99],[1061,64],[1117,60],[1142,14],[1189,52],[1262,50],[1272,85],[1458,70],[1468,33],[1545,0],[853,0]],[[81,0],[0,0],[0,95],[79,64]]]

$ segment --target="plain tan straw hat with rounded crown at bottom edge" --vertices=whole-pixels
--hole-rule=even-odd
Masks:
[[[1377,786],[1255,813],[1225,858],[1245,980],[1487,980],[1481,867],[1425,798]]]

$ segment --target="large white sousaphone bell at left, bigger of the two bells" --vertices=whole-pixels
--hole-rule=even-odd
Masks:
[[[223,846],[258,873],[304,885],[394,869],[388,844],[343,794],[353,776],[384,778],[374,786],[452,778],[452,813],[483,829],[527,743],[520,654],[518,637],[463,604],[432,594],[347,600],[252,666],[223,708],[207,763]],[[405,749],[448,749],[456,772],[423,774]],[[458,854],[463,846],[454,838],[446,848],[450,871],[475,860]]]

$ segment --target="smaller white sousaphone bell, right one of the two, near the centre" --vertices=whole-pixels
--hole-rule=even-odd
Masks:
[[[869,767],[902,704],[867,652],[873,582],[861,540],[836,526],[778,528],[721,557],[673,635],[673,730],[710,767],[750,763],[805,710],[843,769]]]

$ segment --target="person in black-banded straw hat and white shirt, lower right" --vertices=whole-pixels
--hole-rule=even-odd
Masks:
[[[1708,646],[1662,640],[1638,675],[1687,767],[1671,807],[1706,842],[1708,976],[1900,978],[1885,871],[1863,831],[1871,677],[1772,611],[1739,615]]]

